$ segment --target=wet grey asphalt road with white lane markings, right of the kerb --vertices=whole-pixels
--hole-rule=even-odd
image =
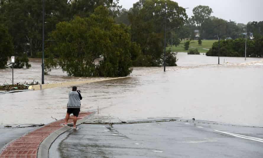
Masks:
[[[82,124],[78,130],[70,130],[59,136],[49,150],[49,157],[262,158],[262,138],[263,128],[193,122],[113,126]]]

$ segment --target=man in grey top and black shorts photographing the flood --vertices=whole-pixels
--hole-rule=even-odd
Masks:
[[[73,86],[72,91],[69,92],[69,101],[67,104],[67,114],[65,118],[65,123],[63,125],[68,124],[69,115],[73,114],[73,129],[76,129],[76,122],[80,112],[80,100],[82,100],[82,96],[80,91],[77,91],[77,87]]]

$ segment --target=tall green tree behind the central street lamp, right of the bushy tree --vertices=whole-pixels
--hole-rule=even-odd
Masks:
[[[135,66],[159,66],[162,63],[164,16],[159,15],[165,12],[165,3],[167,10],[178,9],[167,13],[167,30],[184,25],[187,19],[185,9],[171,0],[140,0],[129,11],[132,41],[140,44],[142,49]]]

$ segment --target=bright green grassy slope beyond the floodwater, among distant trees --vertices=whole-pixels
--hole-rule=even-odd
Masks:
[[[208,50],[205,49],[212,48],[213,43],[216,41],[217,40],[202,40],[202,45],[198,45],[198,40],[193,40],[190,42],[189,49],[197,48],[200,53],[206,53]],[[191,48],[191,47],[195,47],[195,48]],[[168,50],[171,49],[171,46],[168,46],[166,49]],[[181,43],[177,47],[173,46],[172,52],[188,52],[188,50],[187,51],[184,50],[184,41],[181,41]]]

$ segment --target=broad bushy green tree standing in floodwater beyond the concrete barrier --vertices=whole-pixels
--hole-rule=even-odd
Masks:
[[[99,6],[89,17],[60,22],[50,38],[56,43],[46,50],[47,68],[57,64],[73,76],[126,76],[132,58],[140,51],[131,42],[129,29],[117,25],[107,8]],[[58,55],[58,59],[54,59]],[[102,59],[95,63],[95,59]]]

